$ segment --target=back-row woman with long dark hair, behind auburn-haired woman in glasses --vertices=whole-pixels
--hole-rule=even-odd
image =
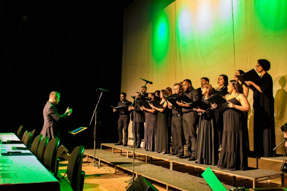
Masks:
[[[228,85],[228,77],[225,74],[221,74],[218,76],[217,84],[219,87],[216,89],[217,91],[222,92],[223,95],[228,94],[227,92],[227,85]],[[216,109],[214,111],[215,119],[216,119],[216,128],[217,128],[217,135],[218,135],[218,147],[221,149],[221,142],[222,142],[222,131],[223,131],[223,113]]]

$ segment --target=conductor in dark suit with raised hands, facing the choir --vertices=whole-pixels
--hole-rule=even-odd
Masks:
[[[67,108],[66,112],[63,115],[58,113],[57,105],[60,101],[60,93],[53,91],[50,93],[49,101],[47,101],[44,109],[44,125],[41,131],[43,137],[49,137],[49,139],[59,138],[60,137],[60,127],[59,122],[67,119],[72,113],[72,109]]]

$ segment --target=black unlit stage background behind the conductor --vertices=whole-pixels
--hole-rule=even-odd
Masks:
[[[24,125],[39,134],[49,93],[57,91],[59,113],[73,109],[60,138],[71,142],[67,131],[88,127],[96,88],[104,88],[110,92],[98,107],[97,135],[100,142],[117,142],[118,115],[110,106],[120,97],[123,8],[131,2],[1,1],[0,132]],[[75,145],[93,146],[93,128],[77,134]]]

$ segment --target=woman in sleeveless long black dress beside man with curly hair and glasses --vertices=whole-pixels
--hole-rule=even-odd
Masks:
[[[163,96],[168,96],[168,92],[166,90],[160,91],[160,104],[163,109],[154,107],[152,104],[150,106],[152,109],[158,111],[158,118],[156,123],[156,152],[161,154],[169,153],[168,147],[168,103],[165,101]]]

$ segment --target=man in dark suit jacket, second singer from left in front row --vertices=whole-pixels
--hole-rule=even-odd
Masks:
[[[137,95],[139,94],[139,92],[135,93],[135,97],[137,97]],[[137,97],[137,100],[141,99],[141,95],[139,95]],[[141,111],[140,109],[140,105],[139,103],[136,103],[136,107],[133,107],[133,105],[131,107],[129,107],[129,111],[132,111],[131,113],[131,121],[133,121],[133,124],[135,124],[135,127],[133,128],[132,125],[132,132],[135,133],[135,144],[136,144],[136,148],[140,148],[141,147],[141,129],[144,129],[144,112]],[[134,113],[135,112],[135,113]],[[135,119],[133,118],[135,115]],[[131,146],[131,148],[134,145]]]

